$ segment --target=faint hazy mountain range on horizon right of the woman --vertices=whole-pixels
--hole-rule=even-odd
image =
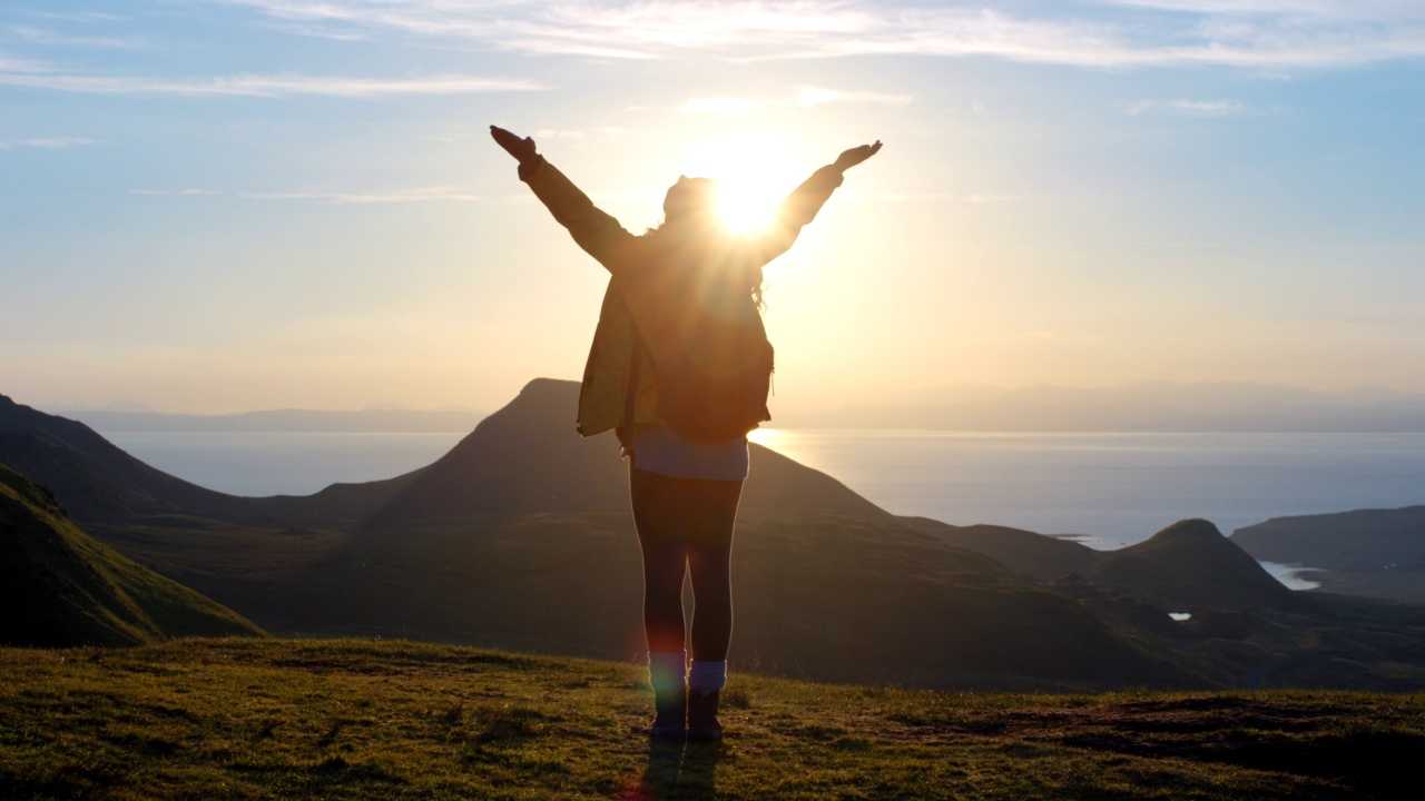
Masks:
[[[1264,383],[953,385],[889,403],[781,413],[777,423],[1025,432],[1425,432],[1425,393],[1315,392]]]

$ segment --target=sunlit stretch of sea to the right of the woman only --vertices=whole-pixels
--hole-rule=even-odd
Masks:
[[[777,430],[754,439],[896,515],[1141,542],[1287,515],[1425,503],[1425,435]]]

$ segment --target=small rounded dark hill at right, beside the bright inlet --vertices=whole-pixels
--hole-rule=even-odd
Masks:
[[[1181,520],[1141,543],[1110,552],[1087,576],[1174,611],[1292,606],[1291,590],[1207,520]]]

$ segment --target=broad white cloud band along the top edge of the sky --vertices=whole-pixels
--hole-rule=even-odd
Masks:
[[[1334,67],[1425,56],[1425,4],[1399,0],[224,0],[329,34],[388,31],[540,54],[658,58],[983,56],[1084,67]]]

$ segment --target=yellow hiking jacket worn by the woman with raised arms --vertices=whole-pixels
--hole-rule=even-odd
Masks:
[[[822,167],[782,201],[764,231],[745,237],[724,231],[671,235],[670,227],[636,237],[543,158],[522,165],[520,180],[574,242],[608,269],[579,393],[579,433],[620,429],[620,439],[627,440],[627,426],[667,425],[658,415],[656,363],[684,358],[711,373],[745,369],[747,348],[760,342],[771,369],[767,331],[741,277],[787,252],[842,175]],[[710,329],[728,335],[708,336]],[[748,429],[770,419],[764,403]]]

